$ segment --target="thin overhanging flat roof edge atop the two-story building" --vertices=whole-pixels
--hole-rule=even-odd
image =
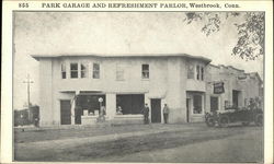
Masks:
[[[61,57],[99,57],[99,58],[148,58],[148,57],[184,57],[190,59],[198,59],[205,62],[210,62],[212,59],[202,56],[192,56],[187,54],[64,54],[64,55],[31,55],[34,59],[41,58],[61,58]]]

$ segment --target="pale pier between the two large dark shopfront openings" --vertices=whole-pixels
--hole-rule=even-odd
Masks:
[[[110,119],[113,119],[116,115],[116,94],[115,93],[106,93],[105,94],[105,106],[106,106],[106,116]]]

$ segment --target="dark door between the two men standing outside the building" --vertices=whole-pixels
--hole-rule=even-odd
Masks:
[[[151,99],[151,122],[161,122],[161,99]]]

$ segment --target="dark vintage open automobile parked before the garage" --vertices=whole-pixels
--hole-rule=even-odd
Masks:
[[[263,126],[263,110],[231,107],[222,112],[206,113],[205,121],[208,127],[228,127],[231,122],[241,122],[243,126],[254,122],[256,126]]]

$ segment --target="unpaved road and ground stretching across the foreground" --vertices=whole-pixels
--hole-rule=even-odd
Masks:
[[[204,124],[14,131],[15,161],[262,162],[263,128]]]

